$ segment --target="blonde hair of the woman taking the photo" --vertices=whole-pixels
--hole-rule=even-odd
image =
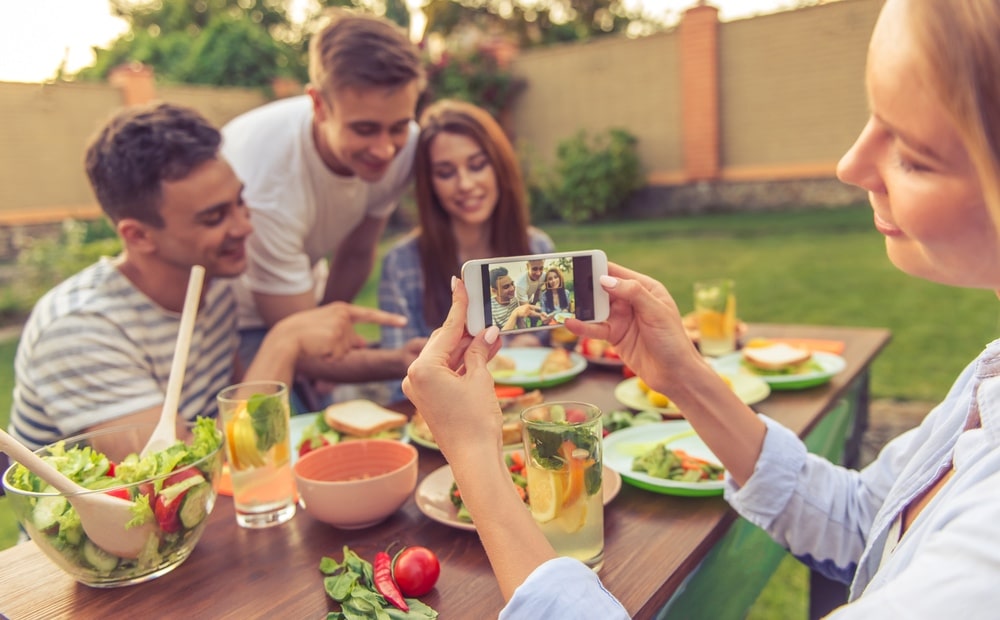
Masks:
[[[1000,226],[1000,2],[913,0],[907,15],[924,79],[955,124]]]

